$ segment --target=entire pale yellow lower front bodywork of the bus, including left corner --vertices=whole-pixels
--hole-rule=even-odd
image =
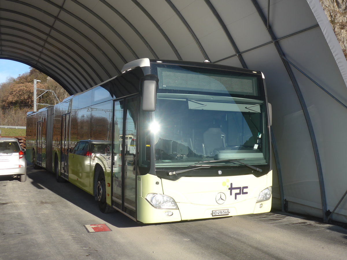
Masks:
[[[150,183],[155,183],[153,178],[160,181],[154,175],[147,174],[142,176],[143,181],[152,179],[151,181],[145,181],[147,182],[146,189],[148,189],[148,186],[152,186]],[[213,210],[229,210],[229,215],[215,216],[227,217],[264,213],[269,212],[271,209],[272,197],[262,202],[256,202],[256,200],[262,190],[272,186],[272,171],[261,177],[255,177],[252,174],[241,176],[181,177],[176,181],[162,179],[161,183],[163,189],[161,194],[173,198],[177,203],[178,210],[170,209],[173,212],[172,216],[165,215],[165,212],[169,209],[155,209],[152,207],[144,199],[147,192],[142,190],[142,196],[137,197],[139,221],[143,223],[161,223],[212,218]],[[157,192],[160,193],[160,185],[155,186],[157,187]],[[222,204],[217,202],[220,193],[225,194],[225,201]]]

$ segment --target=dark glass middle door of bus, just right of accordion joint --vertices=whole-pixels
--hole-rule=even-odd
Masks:
[[[70,113],[61,116],[60,176],[68,180],[68,159],[70,143]]]

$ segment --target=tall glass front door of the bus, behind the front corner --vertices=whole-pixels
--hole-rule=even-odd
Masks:
[[[132,153],[127,147],[127,138],[137,134],[137,97],[115,101],[112,162],[113,206],[136,219],[136,147]]]

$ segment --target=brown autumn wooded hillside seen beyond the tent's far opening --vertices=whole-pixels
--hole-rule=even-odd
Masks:
[[[54,91],[59,101],[69,96],[56,81],[34,68],[17,78],[8,77],[0,84],[0,125],[26,125],[26,113],[34,110],[34,79],[41,80],[37,82],[37,88]],[[37,89],[36,93],[39,97],[44,90]],[[52,92],[46,92],[37,103],[54,105],[58,101]],[[45,106],[37,105],[37,110]]]

